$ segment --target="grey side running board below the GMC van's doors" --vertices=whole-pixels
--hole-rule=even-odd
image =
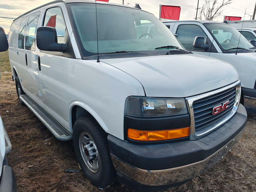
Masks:
[[[58,124],[48,115],[38,104],[36,104],[27,94],[21,95],[20,100],[36,115],[36,117],[50,130],[50,132],[60,141],[72,140],[72,134],[62,125]]]

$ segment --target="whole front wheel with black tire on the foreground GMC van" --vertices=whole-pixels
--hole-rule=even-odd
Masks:
[[[100,188],[112,184],[116,170],[110,157],[107,134],[94,118],[80,117],[75,121],[73,143],[82,172],[92,184]]]

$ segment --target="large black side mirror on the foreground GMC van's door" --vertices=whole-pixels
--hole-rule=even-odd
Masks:
[[[58,43],[57,32],[53,27],[38,27],[36,31],[36,45],[43,51],[65,52],[66,43]]]

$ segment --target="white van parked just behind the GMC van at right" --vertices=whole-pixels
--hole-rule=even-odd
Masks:
[[[252,101],[256,100],[255,47],[244,36],[240,36],[234,27],[221,22],[199,20],[164,24],[178,35],[178,40],[186,50],[231,63],[241,80],[242,95]],[[249,112],[255,108],[250,108]]]

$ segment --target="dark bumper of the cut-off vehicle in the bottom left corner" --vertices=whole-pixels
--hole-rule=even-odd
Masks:
[[[2,179],[0,183],[0,191],[16,192],[16,179],[12,168],[8,165],[3,166]]]

